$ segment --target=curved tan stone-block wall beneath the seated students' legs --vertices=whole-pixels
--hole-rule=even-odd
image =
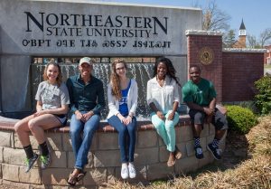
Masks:
[[[69,127],[46,131],[46,137],[51,145],[52,162],[49,168],[42,171],[40,162],[36,163],[30,173],[25,174],[24,151],[14,132],[17,120],[0,117],[0,182],[22,187],[43,188],[44,186],[67,186],[66,178],[74,165],[74,155],[71,148]],[[214,128],[205,124],[201,132],[201,146],[204,158],[199,160],[194,156],[192,128],[188,115],[181,116],[176,126],[176,145],[182,151],[182,158],[173,167],[167,167],[169,156],[163,140],[157,135],[150,121],[137,121],[135,144],[135,168],[137,176],[129,182],[148,182],[150,180],[167,178],[173,175],[194,171],[203,165],[210,164],[213,157],[206,146],[214,137]],[[36,140],[31,138],[33,149],[38,151]],[[225,137],[221,141],[224,149]],[[86,165],[87,175],[79,183],[86,187],[101,184],[114,184],[120,177],[120,152],[117,142],[117,132],[106,122],[101,122],[94,135],[89,151],[89,164]]]

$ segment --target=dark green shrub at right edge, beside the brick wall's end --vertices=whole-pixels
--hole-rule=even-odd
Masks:
[[[255,102],[261,114],[271,112],[271,76],[265,76],[255,82],[257,95]]]

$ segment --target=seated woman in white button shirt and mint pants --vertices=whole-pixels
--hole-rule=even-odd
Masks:
[[[163,138],[170,152],[168,166],[175,165],[182,154],[175,146],[175,125],[179,122],[176,112],[179,105],[178,85],[180,86],[172,61],[158,59],[154,64],[154,78],[147,82],[147,103],[152,109],[151,119],[157,133]]]

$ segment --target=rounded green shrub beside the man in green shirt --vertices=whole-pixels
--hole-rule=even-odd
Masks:
[[[250,109],[239,106],[226,106],[229,129],[236,130],[240,134],[246,134],[257,124],[257,117]]]

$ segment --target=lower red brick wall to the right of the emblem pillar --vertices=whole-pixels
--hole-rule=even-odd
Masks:
[[[264,53],[223,52],[222,101],[251,100],[254,82],[264,75]]]

